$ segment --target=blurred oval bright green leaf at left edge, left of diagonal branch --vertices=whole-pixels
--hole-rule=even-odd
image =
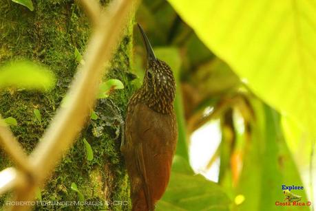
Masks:
[[[46,91],[52,89],[54,82],[51,71],[27,60],[10,62],[0,67],[0,89],[18,87]]]

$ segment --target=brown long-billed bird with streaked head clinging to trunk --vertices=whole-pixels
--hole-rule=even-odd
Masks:
[[[125,138],[120,150],[130,180],[133,211],[153,211],[171,173],[178,141],[173,101],[176,82],[171,67],[156,58],[143,28],[138,24],[147,52],[143,85],[129,99]]]

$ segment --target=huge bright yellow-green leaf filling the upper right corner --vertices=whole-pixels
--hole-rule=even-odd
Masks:
[[[316,134],[315,0],[168,1],[257,96]]]

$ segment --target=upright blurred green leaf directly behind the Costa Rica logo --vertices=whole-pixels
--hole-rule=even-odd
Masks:
[[[256,120],[251,126],[251,140],[244,149],[242,174],[235,190],[237,196],[244,197],[238,210],[309,210],[308,206],[275,206],[276,201],[285,201],[282,185],[304,185],[282,135],[280,114],[259,100],[252,100],[251,104]],[[304,190],[293,193],[306,203]]]

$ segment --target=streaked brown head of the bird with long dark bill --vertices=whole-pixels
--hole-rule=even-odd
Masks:
[[[156,58],[143,28],[139,24],[138,27],[147,51],[147,67],[141,88],[143,89],[142,97],[151,109],[168,113],[170,109],[173,109],[173,100],[176,95],[173,73],[167,63]]]

